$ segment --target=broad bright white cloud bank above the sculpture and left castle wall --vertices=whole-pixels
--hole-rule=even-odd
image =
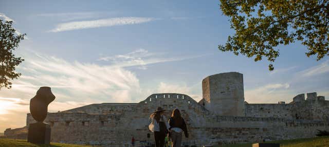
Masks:
[[[135,73],[112,65],[67,62],[57,57],[24,53],[26,60],[17,69],[24,76],[12,89],[2,89],[1,97],[30,99],[40,86],[52,87],[57,101],[137,102],[142,93]],[[121,91],[128,95],[113,97]],[[75,98],[79,99],[75,99]]]

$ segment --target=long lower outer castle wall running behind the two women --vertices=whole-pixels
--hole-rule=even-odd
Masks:
[[[190,145],[308,138],[315,137],[317,129],[329,129],[325,121],[200,115],[200,123],[197,123],[186,111],[182,114],[187,119],[190,134],[189,138],[183,137],[183,142]],[[67,124],[67,120],[71,122]],[[51,125],[51,141],[54,142],[119,145],[129,144],[132,136],[138,141],[154,141],[148,119],[139,115],[52,113],[47,122]]]

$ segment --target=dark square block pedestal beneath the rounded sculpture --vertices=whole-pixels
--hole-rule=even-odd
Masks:
[[[50,143],[50,125],[43,122],[31,123],[27,135],[27,142],[36,144]]]

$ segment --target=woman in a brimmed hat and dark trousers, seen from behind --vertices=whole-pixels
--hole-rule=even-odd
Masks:
[[[169,132],[170,125],[164,115],[165,109],[157,107],[156,111],[150,116],[151,123],[149,129],[154,133],[155,146],[163,147],[165,145],[166,134]]]

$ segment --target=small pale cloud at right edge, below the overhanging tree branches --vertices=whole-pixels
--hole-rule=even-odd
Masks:
[[[326,60],[319,65],[302,70],[298,72],[298,75],[301,75],[302,77],[310,77],[310,76],[320,75],[326,72],[329,72],[329,60]]]

